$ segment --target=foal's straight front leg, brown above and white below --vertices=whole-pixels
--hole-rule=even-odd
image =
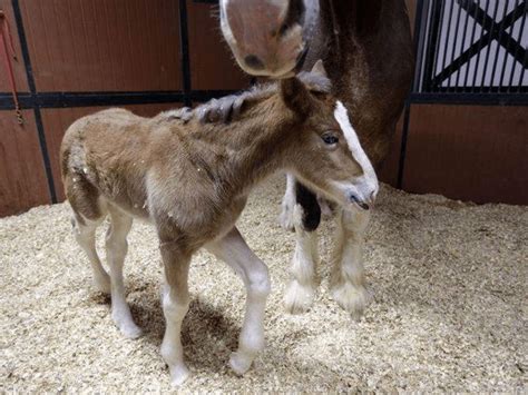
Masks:
[[[182,323],[189,308],[187,283],[190,255],[182,253],[174,243],[164,243],[160,249],[165,267],[162,305],[166,322],[162,356],[168,365],[172,384],[177,386],[190,375],[184,363],[182,346]]]

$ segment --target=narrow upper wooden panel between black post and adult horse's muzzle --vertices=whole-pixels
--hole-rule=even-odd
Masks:
[[[250,77],[236,65],[225,43],[217,6],[187,1],[193,89],[243,89]]]

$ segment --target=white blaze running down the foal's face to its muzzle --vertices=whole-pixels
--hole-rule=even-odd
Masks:
[[[352,189],[358,192],[359,198],[369,200],[370,195],[372,192],[374,194],[374,197],[378,194],[378,177],[375,176],[374,168],[372,167],[369,157],[361,147],[358,134],[355,132],[354,128],[352,127],[352,124],[350,122],[346,108],[340,100],[336,101],[334,117],[338,124],[340,125],[341,130],[343,130],[344,138],[346,139],[346,144],[349,145],[350,151],[352,152],[352,157],[363,170],[362,176],[352,180]]]

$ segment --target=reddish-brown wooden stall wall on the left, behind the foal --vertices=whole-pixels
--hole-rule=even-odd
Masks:
[[[19,92],[28,92],[11,0],[0,0],[13,32]],[[179,9],[175,0],[19,0],[37,92],[178,91],[182,89]],[[222,41],[212,6],[187,0],[192,89],[248,86]],[[3,63],[0,66],[3,70]],[[0,92],[9,92],[0,72]],[[153,116],[180,102],[127,107]],[[41,109],[55,191],[63,199],[58,152],[66,128],[102,107]],[[16,124],[0,110],[0,216],[50,204],[33,111]]]

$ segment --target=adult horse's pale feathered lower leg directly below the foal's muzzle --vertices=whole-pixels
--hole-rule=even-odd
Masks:
[[[352,317],[360,318],[371,296],[365,287],[362,263],[363,236],[370,211],[343,210],[338,215],[338,237],[331,295]]]

